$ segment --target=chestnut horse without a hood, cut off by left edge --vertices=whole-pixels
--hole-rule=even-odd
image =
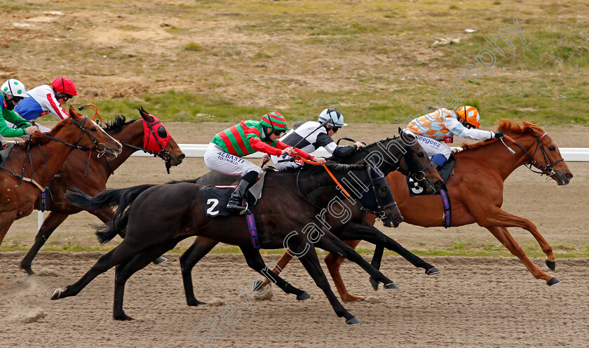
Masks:
[[[33,211],[39,193],[74,149],[91,150],[111,159],[121,153],[121,144],[88,116],[74,107],[69,108],[69,114],[69,119],[57,123],[49,133],[36,132],[30,140],[15,144],[1,164],[0,243],[14,220]]]

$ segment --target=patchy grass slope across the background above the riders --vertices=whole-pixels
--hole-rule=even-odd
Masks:
[[[295,121],[333,106],[351,123],[398,123],[438,102],[438,93],[473,64],[482,75],[473,84],[459,79],[464,93],[458,97],[463,104],[480,105],[484,126],[499,118],[589,126],[584,77],[589,74],[589,6],[584,1],[518,1],[517,11],[508,1],[485,0],[459,6],[449,0],[144,1],[140,7],[121,0],[73,0],[48,6],[6,11],[29,18],[25,11],[81,9],[120,20],[47,27],[59,37],[57,49],[36,44],[47,41],[39,36],[11,44],[13,56],[22,53],[27,64],[12,58],[3,64],[23,81],[62,74],[56,66],[68,67],[82,91],[97,88],[93,76],[139,83],[137,93],[117,93],[118,86],[109,86],[113,93],[82,92],[76,98],[95,103],[107,118],[144,105],[164,121],[238,121],[273,109]],[[162,13],[175,20],[161,18]],[[515,29],[514,17],[525,43],[503,30]],[[476,32],[468,34],[467,28]],[[128,35],[94,41],[103,29]],[[491,75],[475,57],[492,49],[485,36],[497,34],[513,46],[497,41],[505,54],[495,54]],[[442,38],[460,41],[431,46]]]

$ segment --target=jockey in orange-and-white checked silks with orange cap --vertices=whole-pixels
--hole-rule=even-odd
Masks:
[[[417,141],[431,157],[431,161],[440,167],[452,154],[452,149],[445,143],[454,142],[454,135],[473,140],[503,136],[501,131],[475,129],[480,128],[479,121],[479,112],[475,107],[463,106],[456,112],[441,108],[413,119],[407,125],[407,129],[417,135]]]

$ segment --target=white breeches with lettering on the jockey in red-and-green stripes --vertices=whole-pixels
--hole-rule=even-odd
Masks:
[[[233,154],[228,154],[219,145],[213,144],[212,142],[205,150],[205,165],[210,170],[228,175],[243,176],[245,173],[250,173],[251,171],[255,171],[258,174],[264,172],[262,168],[256,166],[254,163]]]

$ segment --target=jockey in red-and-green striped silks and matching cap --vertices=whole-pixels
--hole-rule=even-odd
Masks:
[[[318,158],[286,145],[278,140],[280,134],[288,130],[286,119],[278,112],[262,116],[260,121],[245,120],[233,127],[217,133],[205,151],[205,165],[210,170],[228,175],[241,175],[231,199],[227,203],[230,210],[245,210],[241,204],[245,192],[254,185],[262,168],[242,159],[242,156],[254,152],[281,156],[297,155],[316,162],[325,162]]]

